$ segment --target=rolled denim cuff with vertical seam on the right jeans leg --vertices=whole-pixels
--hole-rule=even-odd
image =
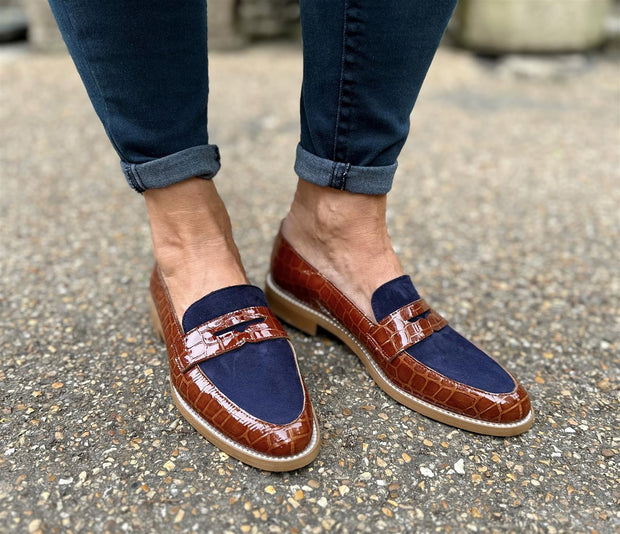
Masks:
[[[385,195],[392,188],[397,163],[362,167],[320,158],[297,145],[295,172],[302,180],[350,193]]]

